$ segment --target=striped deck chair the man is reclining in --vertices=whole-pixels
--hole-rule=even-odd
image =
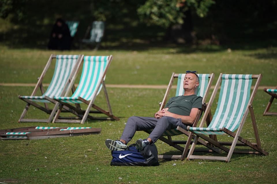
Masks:
[[[171,90],[171,87],[173,85],[175,78],[178,78],[175,96],[184,95],[184,87],[183,86],[184,86],[185,75],[186,74],[175,74],[175,73],[172,74],[171,79],[169,81],[169,85],[166,89],[166,93],[161,102],[160,110],[162,110],[166,104],[167,98],[169,96],[169,92]],[[203,109],[205,110],[205,108],[206,108],[205,101],[207,99],[207,95],[209,93],[209,90],[212,85],[212,81],[214,79],[214,73],[212,73],[212,74],[197,74],[197,75],[199,76],[199,86],[196,89],[197,90],[196,95],[203,97],[202,106],[203,106]],[[194,121],[194,123],[192,125],[193,127],[197,126],[197,123],[200,119],[201,114],[202,114],[202,110],[199,110],[196,120]],[[207,121],[207,123],[208,123],[208,121]],[[145,131],[145,132],[151,133],[152,130]],[[173,141],[171,139],[171,136],[175,136],[175,135],[187,135],[188,139],[181,140],[181,141],[177,141],[177,140]],[[167,139],[165,138],[166,136],[167,136]],[[184,160],[184,158],[186,157],[186,154],[188,152],[189,145],[192,143],[191,140],[193,139],[193,137],[194,137],[194,135],[192,135],[191,132],[188,132],[185,129],[182,129],[181,127],[177,127],[176,129],[165,131],[159,139],[161,141],[169,144],[170,146],[173,146],[176,149],[182,151],[183,153],[182,153],[182,155],[158,155],[158,158],[159,159],[181,159],[181,160]],[[211,138],[213,138],[213,137],[211,137]],[[188,142],[188,144],[187,144],[187,142]],[[186,146],[181,147],[179,144],[183,144],[183,145],[185,144]],[[212,147],[211,145],[207,144],[205,141],[200,141],[199,144],[202,144],[202,145],[205,145],[206,147],[208,147],[209,152],[212,152],[212,151],[219,152],[219,150],[217,148]]]

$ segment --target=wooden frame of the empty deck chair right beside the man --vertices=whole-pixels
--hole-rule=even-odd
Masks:
[[[222,133],[224,132],[224,133],[230,135],[230,137],[233,137],[233,142],[219,142],[217,140],[210,139],[208,136],[206,136],[204,134],[195,133],[194,131],[192,131],[196,136],[194,138],[194,141],[193,141],[192,146],[190,148],[190,151],[188,153],[187,160],[190,160],[190,159],[201,159],[201,160],[221,160],[221,161],[229,162],[233,153],[268,155],[268,152],[266,152],[265,150],[261,149],[261,141],[260,141],[260,138],[259,138],[257,124],[256,124],[255,116],[254,116],[254,110],[253,110],[253,106],[252,106],[252,102],[253,102],[254,96],[255,96],[255,94],[257,92],[257,89],[259,87],[261,78],[262,78],[262,74],[252,75],[252,79],[257,79],[257,81],[256,81],[256,83],[254,85],[254,89],[253,89],[252,93],[250,94],[250,98],[248,100],[248,103],[247,103],[246,109],[244,111],[244,114],[242,116],[242,119],[239,122],[239,126],[237,128],[237,132],[234,133],[234,132],[228,130],[227,128],[225,128],[225,127],[220,128],[220,131],[222,131]],[[200,126],[199,126],[200,128],[203,127],[203,124],[204,124],[206,118],[208,117],[208,112],[211,109],[212,103],[213,103],[214,98],[216,96],[216,93],[217,93],[217,91],[218,91],[218,89],[220,87],[221,81],[222,81],[222,73],[220,73],[220,76],[218,78],[218,81],[216,83],[214,91],[212,93],[212,97],[209,100],[209,106],[207,107],[207,109],[206,109],[206,111],[205,111],[205,113],[203,115],[202,121],[201,121]],[[220,90],[223,90],[223,89],[220,89]],[[242,138],[240,136],[240,133],[241,133],[243,125],[244,125],[244,123],[246,121],[246,117],[248,115],[248,112],[250,112],[250,115],[251,115],[252,125],[253,125],[253,129],[254,129],[254,135],[255,135],[257,143],[251,143],[251,142],[247,141],[246,139],[244,139],[244,138]],[[188,130],[191,131],[192,129],[195,129],[195,128],[194,127],[188,127]],[[227,156],[193,155],[196,143],[199,140],[201,140],[201,139],[203,139],[205,141],[208,141],[212,145],[214,145],[214,146],[220,148],[221,150],[227,152],[228,155]],[[238,143],[238,141],[240,141],[241,143]],[[231,147],[229,149],[229,148],[227,148],[225,146],[231,146]],[[249,146],[254,151],[252,151],[252,150],[251,151],[235,151],[234,150],[235,146]]]

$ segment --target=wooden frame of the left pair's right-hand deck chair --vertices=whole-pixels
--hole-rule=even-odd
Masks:
[[[85,56],[86,57],[86,56]],[[84,57],[84,60],[85,60],[85,57]],[[67,122],[67,123],[81,123],[81,124],[84,124],[85,121],[87,120],[87,118],[89,119],[101,119],[101,120],[119,120],[118,117],[114,116],[113,113],[112,113],[112,110],[111,110],[111,105],[110,105],[110,101],[109,101],[109,98],[108,98],[108,93],[107,93],[107,90],[106,90],[106,86],[105,86],[105,82],[104,82],[104,79],[105,79],[105,76],[106,76],[106,72],[111,64],[111,61],[113,59],[113,56],[110,55],[110,56],[107,56],[107,64],[106,64],[106,67],[102,73],[100,77],[100,82],[96,84],[96,90],[94,91],[93,95],[92,95],[92,98],[91,100],[86,100],[80,96],[78,96],[78,101],[81,101],[81,103],[85,103],[87,104],[87,109],[86,110],[82,110],[81,109],[81,106],[80,104],[76,103],[75,106],[72,106],[70,105],[69,103],[65,102],[65,101],[61,101],[61,97],[54,97],[53,100],[55,101],[58,101],[60,104],[56,104],[55,107],[59,106],[59,109],[57,110],[57,113],[53,119],[53,123],[54,122]],[[84,61],[82,61],[84,62]],[[78,66],[78,69],[80,69],[81,67],[81,63],[80,62],[80,65]],[[85,66],[84,66],[85,67]],[[85,70],[85,68],[83,67],[83,70]],[[82,78],[80,80],[80,83],[82,81]],[[78,86],[81,86],[81,84],[79,83]],[[68,98],[68,94],[70,92],[70,87],[72,87],[73,83],[70,83],[69,85],[69,88],[68,88],[68,91],[65,93],[65,100],[66,98]],[[105,95],[105,98],[106,98],[106,103],[107,103],[107,106],[108,106],[108,111],[96,106],[94,103],[94,100],[97,96],[97,91],[99,91],[100,87],[103,87],[103,90],[104,90],[104,95]],[[78,90],[78,88],[76,89],[76,91]],[[70,98],[70,97],[69,97]],[[68,112],[71,112],[72,114],[76,115],[77,117],[64,117],[64,118],[59,118],[59,115],[61,113],[61,110],[62,109],[65,109],[66,111]],[[91,108],[94,108],[96,110],[91,110]],[[106,116],[108,117],[93,117],[91,115],[89,115],[89,113],[102,113],[102,114],[105,114]],[[54,113],[52,113],[53,115]]]

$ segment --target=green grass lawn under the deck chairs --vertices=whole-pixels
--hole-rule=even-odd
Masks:
[[[151,47],[134,50],[46,51],[11,49],[0,46],[0,83],[36,83],[48,57],[54,54],[113,55],[106,84],[167,85],[172,72],[198,70],[199,73],[263,74],[262,86],[277,84],[277,47]],[[44,83],[50,83],[54,65]],[[52,72],[52,74],[51,74]],[[17,123],[25,102],[18,95],[29,95],[33,87],[0,85],[1,129],[55,126],[102,128],[100,134],[42,140],[0,140],[0,182],[4,183],[276,183],[276,116],[263,116],[269,95],[259,89],[253,107],[262,148],[268,156],[233,154],[229,163],[204,160],[160,160],[156,167],[110,166],[111,152],[105,139],[118,139],[128,117],[153,116],[165,89],[108,88],[113,114],[119,121],[88,120],[80,124]],[[210,95],[212,90],[210,91]],[[171,93],[171,96],[173,92]],[[217,100],[214,101],[216,105]],[[96,105],[105,105],[101,92]],[[83,106],[85,107],[85,106]],[[214,112],[216,106],[213,106]],[[277,111],[274,101],[272,111]],[[31,107],[26,118],[47,118]],[[250,115],[242,137],[255,141]],[[137,132],[130,143],[146,138]],[[175,136],[173,139],[187,139]],[[220,140],[230,140],[223,135]],[[159,154],[180,154],[175,148],[157,141]],[[205,154],[205,153],[199,153]],[[209,154],[212,155],[212,154]],[[223,153],[222,155],[225,155]],[[173,165],[174,164],[174,165]],[[176,165],[175,165],[176,164]]]

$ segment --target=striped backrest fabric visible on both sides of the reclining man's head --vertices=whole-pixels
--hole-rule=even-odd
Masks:
[[[184,95],[184,78],[186,74],[179,74],[178,75],[178,83],[177,83],[177,90],[176,96]],[[209,82],[209,74],[197,74],[199,77],[199,86],[197,87],[196,95],[197,96],[204,96],[206,91],[208,82]]]

